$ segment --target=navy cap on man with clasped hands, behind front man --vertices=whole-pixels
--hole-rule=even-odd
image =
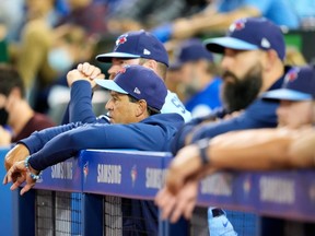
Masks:
[[[96,56],[101,62],[112,62],[113,58],[147,58],[168,67],[168,55],[162,42],[143,30],[118,36],[113,52]]]

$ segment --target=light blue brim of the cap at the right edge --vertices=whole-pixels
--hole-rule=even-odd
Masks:
[[[262,94],[264,99],[283,99],[283,101],[312,101],[312,95],[301,93],[294,90],[280,88]]]

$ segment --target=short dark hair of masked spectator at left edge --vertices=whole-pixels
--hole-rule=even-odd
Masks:
[[[7,63],[0,63],[0,94],[9,96],[11,91],[18,87],[22,97],[25,96],[24,83],[16,69]]]

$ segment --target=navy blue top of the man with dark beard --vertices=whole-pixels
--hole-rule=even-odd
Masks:
[[[289,67],[285,68],[285,72],[288,70]],[[280,88],[282,86],[283,80],[284,75],[277,80],[269,88],[269,91]],[[244,113],[242,113],[237,117],[210,123],[208,122],[198,127],[196,127],[196,125],[201,123],[206,119],[192,119],[190,122],[185,123],[185,126],[179,130],[179,132],[177,132],[176,137],[172,142],[172,152],[173,154],[176,154],[177,151],[185,145],[185,139],[190,132],[194,132],[191,142],[196,142],[197,140],[203,138],[213,138],[218,134],[233,130],[276,127],[278,123],[276,114],[279,102],[277,101],[265,101],[258,97],[244,110]],[[212,115],[212,117],[215,116],[217,114]],[[208,118],[209,116],[207,117],[207,119]]]

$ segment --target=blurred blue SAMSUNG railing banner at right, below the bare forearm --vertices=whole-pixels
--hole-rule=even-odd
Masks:
[[[200,182],[198,205],[315,221],[315,172],[220,172]]]

